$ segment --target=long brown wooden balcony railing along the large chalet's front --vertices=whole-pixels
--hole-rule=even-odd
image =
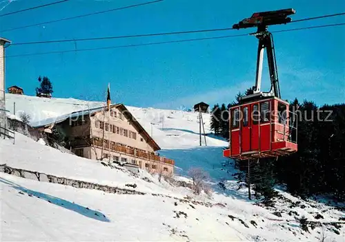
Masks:
[[[95,146],[98,146],[98,147],[102,146],[101,139],[93,138],[92,142]],[[108,149],[108,140],[104,140],[103,148]],[[168,159],[166,157],[155,155],[155,153],[141,151],[141,150],[138,150],[137,148],[121,146],[115,143],[110,144],[110,151],[121,152],[121,153],[125,153],[126,155],[132,155],[141,159],[148,159],[155,162],[162,162],[165,164],[170,164],[172,166],[175,164],[175,161],[173,159]]]

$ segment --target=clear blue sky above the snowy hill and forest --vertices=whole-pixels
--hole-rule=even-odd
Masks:
[[[0,14],[56,0],[17,0],[8,5],[0,1]],[[79,14],[98,12],[148,0],[70,0],[47,8],[1,17],[1,36],[12,43],[82,39],[228,28],[253,12],[295,8],[293,19],[345,12],[343,0],[330,1],[228,1],[164,0],[137,8],[39,25],[23,30],[4,30]],[[333,17],[270,30],[310,25],[344,23],[345,17]],[[254,29],[252,30],[254,32]],[[173,41],[228,34],[248,30],[230,30],[176,36],[136,39],[50,43],[10,46],[6,54],[31,54],[92,47],[106,47]],[[282,98],[314,100],[317,104],[344,102],[345,98],[345,26],[274,34]],[[253,36],[172,43],[122,49],[70,52],[6,59],[6,86],[19,85],[34,95],[38,76],[48,76],[55,97],[103,100],[110,83],[112,101],[137,107],[175,109],[199,101],[215,104],[231,102],[238,91],[255,83],[257,40]],[[269,80],[264,72],[263,87]]]

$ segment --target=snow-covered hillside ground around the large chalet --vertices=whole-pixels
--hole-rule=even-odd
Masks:
[[[32,124],[101,105],[72,98],[6,94],[10,111],[13,102],[17,116],[20,111],[29,113]],[[296,219],[302,215],[319,222],[339,222],[345,217],[344,212],[325,203],[303,201],[284,191],[280,191],[284,199],[277,201],[276,208],[262,208],[248,201],[246,190],[237,190],[232,177],[236,170],[222,157],[227,142],[208,135],[208,146],[199,146],[197,113],[128,109],[148,133],[152,132],[163,148],[159,153],[175,159],[175,173],[181,175],[177,179],[188,181],[190,167],[210,173],[213,197],[195,196],[188,188],[159,182],[144,171],[135,176],[61,153],[17,133],[15,144],[0,140],[0,164],[119,188],[137,184],[135,190],[146,195],[108,194],[0,173],[1,241],[320,241],[322,234],[326,241],[345,241],[344,225],[310,228],[310,233],[299,228]],[[204,116],[206,133],[210,133],[209,118]],[[226,190],[217,189],[221,179]],[[277,211],[282,217],[273,214]],[[323,219],[315,219],[317,214]]]

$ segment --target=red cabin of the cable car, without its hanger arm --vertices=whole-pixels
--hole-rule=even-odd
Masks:
[[[275,96],[230,107],[230,146],[225,157],[257,159],[297,151],[297,118]]]

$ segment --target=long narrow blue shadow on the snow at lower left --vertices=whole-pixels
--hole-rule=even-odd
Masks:
[[[65,199],[61,199],[59,197],[53,197],[51,195],[42,193],[42,192],[37,192],[34,190],[30,190],[27,188],[24,188],[23,186],[19,186],[18,184],[14,184],[12,181],[8,181],[6,179],[0,178],[0,182],[4,184],[8,184],[12,188],[15,188],[21,192],[25,192],[28,194],[30,197],[37,197],[39,199],[43,199],[45,201],[48,201],[49,203],[52,203],[56,206],[59,206],[61,208],[66,208],[68,210],[71,210],[73,212],[77,212],[83,216],[89,217],[90,219],[96,219],[98,221],[102,222],[110,222],[110,220],[104,215],[103,213],[92,210],[90,208],[86,208],[84,206],[81,206],[77,203],[71,203],[70,201],[67,201]]]

